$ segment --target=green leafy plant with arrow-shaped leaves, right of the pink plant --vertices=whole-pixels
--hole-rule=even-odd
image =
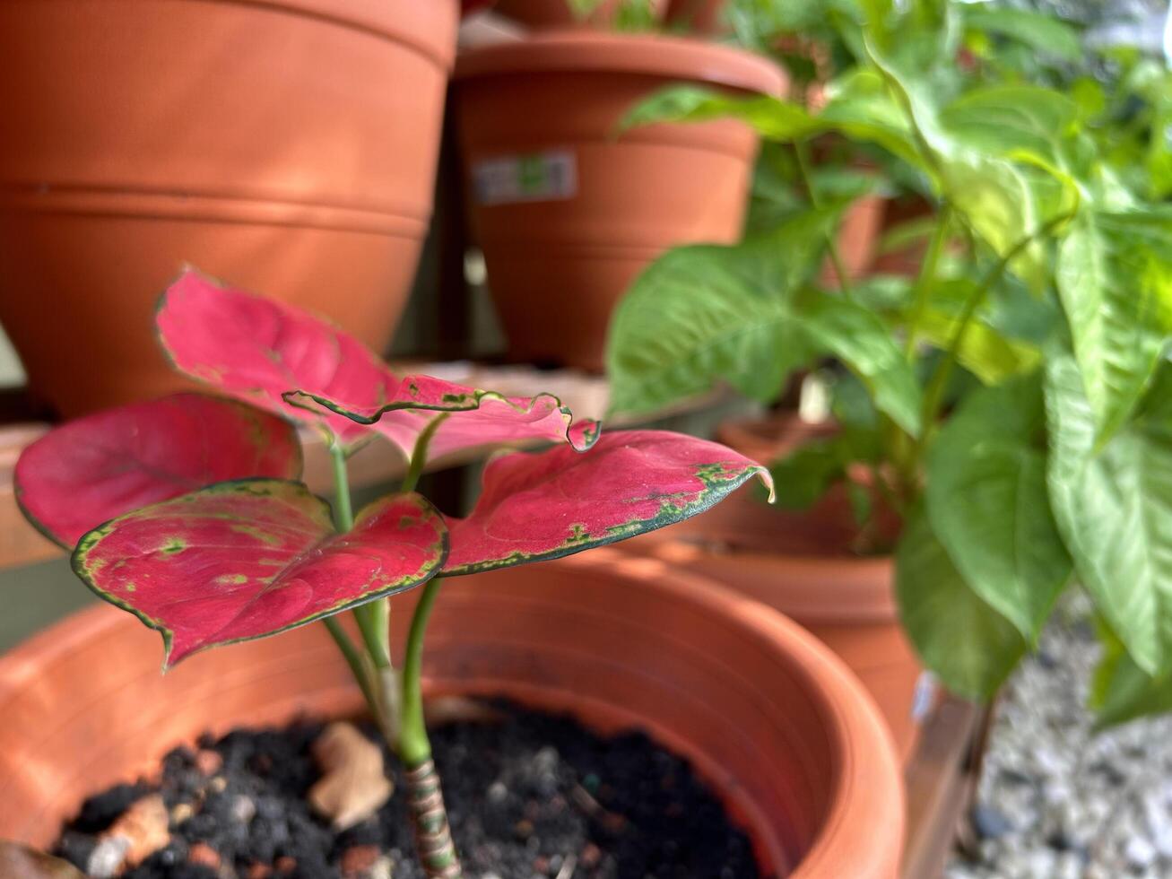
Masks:
[[[934,204],[917,277],[819,284],[843,202],[670,251],[614,315],[612,407],[718,382],[772,403],[831,361],[840,432],[775,473],[817,463],[817,489],[865,466],[904,519],[886,548],[905,626],[946,684],[989,697],[1074,574],[1112,646],[1104,720],[1170,704],[1172,211],[1120,180],[1075,100],[958,76],[970,11],[866,6],[861,59],[817,111],[675,87],[629,123],[732,116],[796,154],[827,134],[881,150]]]

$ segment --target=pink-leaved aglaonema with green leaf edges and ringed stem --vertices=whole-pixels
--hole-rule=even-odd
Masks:
[[[179,394],[53,430],[16,465],[21,509],[74,547],[74,571],[98,597],[162,633],[164,668],[322,620],[403,762],[431,877],[462,875],[420,686],[442,578],[621,540],[701,512],[755,475],[769,483],[756,462],[703,440],[657,430],[600,437],[597,423],[575,424],[548,395],[396,376],[319,318],[195,271],[164,294],[157,325],[179,369],[238,400]],[[286,418],[325,431],[332,507],[299,481]],[[407,476],[355,516],[347,455],[376,436],[403,452]],[[415,491],[429,456],[533,440],[554,445],[493,458],[468,518],[445,518]],[[397,669],[386,599],[421,585]],[[347,609],[361,643],[334,619]]]

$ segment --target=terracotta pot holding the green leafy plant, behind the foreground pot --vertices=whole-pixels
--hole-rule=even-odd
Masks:
[[[721,442],[770,462],[831,430],[796,416],[722,427]],[[770,507],[742,490],[710,511],[624,544],[703,573],[781,611],[817,635],[874,697],[906,761],[933,688],[899,621],[891,556],[852,553],[858,526],[845,489],[809,510]],[[899,518],[879,504],[878,539],[894,543]]]

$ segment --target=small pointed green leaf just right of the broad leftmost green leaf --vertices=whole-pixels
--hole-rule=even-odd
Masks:
[[[880,411],[911,436],[919,436],[920,386],[880,318],[849,299],[819,291],[802,293],[796,316],[817,350],[838,357],[867,386]]]

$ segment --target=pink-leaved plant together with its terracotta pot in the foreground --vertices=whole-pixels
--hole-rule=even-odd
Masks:
[[[0,661],[0,834],[50,843],[90,785],[142,771],[200,731],[364,702],[402,764],[395,796],[424,873],[462,875],[423,713],[429,632],[432,693],[506,695],[602,730],[638,723],[690,757],[752,834],[737,861],[745,874],[755,859],[763,873],[895,875],[890,741],[812,639],[655,564],[598,554],[534,577],[511,570],[694,515],[754,476],[768,482],[763,468],[676,434],[600,437],[548,396],[395,376],[308,313],[195,272],[170,287],[157,323],[179,369],[268,411],[180,395],[67,424],[22,455],[29,519],[75,545],[74,571],[98,597],[162,634],[164,668],[182,665],[144,674],[154,639],[105,608]],[[277,415],[329,438],[332,507],[297,481],[297,441]],[[408,457],[407,476],[354,515],[347,452],[376,435]],[[524,438],[556,445],[493,458],[466,518],[415,491],[429,455]],[[437,602],[461,574],[475,575]],[[314,620],[325,625],[305,625]],[[708,638],[723,646],[689,646]],[[207,802],[185,802],[169,822],[195,820]]]

